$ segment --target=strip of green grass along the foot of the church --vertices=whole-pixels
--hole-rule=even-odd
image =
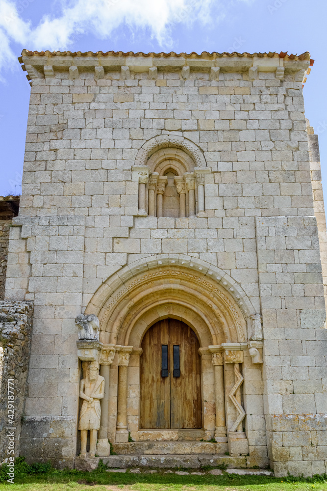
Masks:
[[[80,472],[51,469],[48,473],[17,476],[14,485],[0,483],[0,491],[8,490],[8,486],[22,491],[85,491],[90,489],[87,484],[93,485],[91,489],[97,491],[326,491],[327,476],[312,479],[229,474],[179,476],[164,474],[164,470],[156,474],[119,474],[103,470]]]

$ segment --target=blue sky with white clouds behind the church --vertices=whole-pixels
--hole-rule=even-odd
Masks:
[[[321,0],[0,0],[0,195],[20,190],[30,85],[17,57],[26,48],[309,51],[305,115],[319,135],[327,196],[326,14]]]

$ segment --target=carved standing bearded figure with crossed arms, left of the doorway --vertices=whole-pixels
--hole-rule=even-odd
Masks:
[[[79,397],[84,399],[79,416],[80,456],[86,457],[87,432],[90,431],[90,457],[96,453],[98,430],[100,429],[100,399],[104,396],[104,378],[99,375],[99,364],[92,361],[86,370],[86,378],[80,382]]]

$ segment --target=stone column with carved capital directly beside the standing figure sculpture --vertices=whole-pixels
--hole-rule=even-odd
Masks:
[[[115,345],[104,344],[100,353],[100,375],[104,378],[104,397],[101,400],[101,421],[97,444],[97,455],[100,457],[110,455],[110,443],[108,442],[109,375],[115,351]]]

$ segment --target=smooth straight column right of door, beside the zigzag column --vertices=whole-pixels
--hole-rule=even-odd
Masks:
[[[209,346],[215,375],[216,429],[215,439],[219,443],[227,441],[225,418],[224,356],[219,346]]]

